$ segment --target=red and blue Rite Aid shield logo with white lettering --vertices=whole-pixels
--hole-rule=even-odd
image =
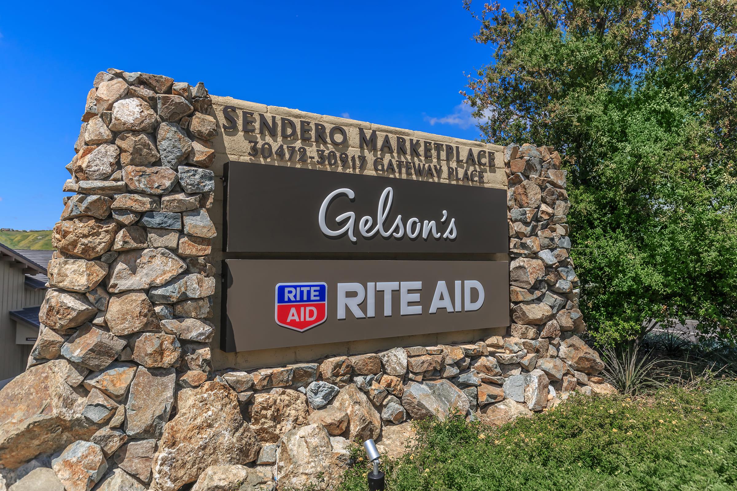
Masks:
[[[327,285],[278,283],[274,319],[295,331],[307,331],[322,324],[327,319]]]

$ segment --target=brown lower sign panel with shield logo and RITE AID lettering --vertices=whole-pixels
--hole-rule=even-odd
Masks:
[[[225,351],[509,325],[507,261],[228,259],[224,266]]]

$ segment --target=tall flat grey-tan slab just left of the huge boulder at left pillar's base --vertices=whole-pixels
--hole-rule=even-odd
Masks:
[[[174,403],[173,368],[139,367],[125,405],[125,433],[133,438],[158,438]]]

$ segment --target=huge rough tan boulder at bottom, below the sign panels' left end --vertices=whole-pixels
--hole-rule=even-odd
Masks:
[[[212,381],[183,389],[177,406],[154,456],[152,491],[178,490],[211,465],[256,460],[258,439],[241,417],[236,393],[226,384]]]

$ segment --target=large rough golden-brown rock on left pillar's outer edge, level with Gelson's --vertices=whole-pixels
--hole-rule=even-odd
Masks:
[[[52,233],[55,249],[83,259],[94,259],[110,249],[118,232],[113,220],[83,216],[57,222]]]

